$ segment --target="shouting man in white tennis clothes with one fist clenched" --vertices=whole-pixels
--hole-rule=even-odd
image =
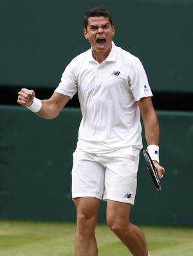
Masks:
[[[73,153],[72,195],[77,208],[75,255],[98,255],[95,226],[100,201],[107,201],[107,224],[134,256],[149,255],[142,230],[131,224],[139,153],[140,113],[148,150],[158,170],[159,124],[142,63],[113,43],[115,28],[103,6],[88,10],[84,36],[91,49],[68,64],[50,99],[22,89],[18,103],[53,119],[78,92],[82,121]]]

